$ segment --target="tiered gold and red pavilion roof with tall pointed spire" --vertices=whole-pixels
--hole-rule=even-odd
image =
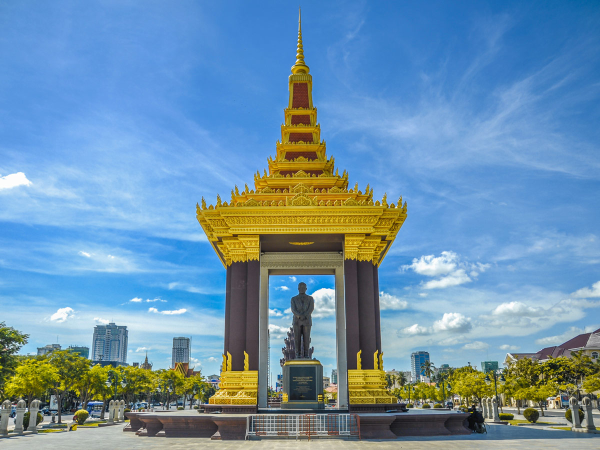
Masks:
[[[261,242],[272,235],[285,241],[280,250],[332,250],[331,242],[340,242],[346,259],[378,265],[406,219],[406,202],[400,197],[388,203],[386,194],[374,200],[368,184],[364,190],[358,183],[349,188],[349,174],[340,175],[334,157],[328,157],[298,19],[296,63],[275,157],[268,157],[268,170],[254,174],[254,188],[236,185],[228,201],[217,195],[214,205],[202,198],[197,219],[225,266],[259,259],[265,251]]]

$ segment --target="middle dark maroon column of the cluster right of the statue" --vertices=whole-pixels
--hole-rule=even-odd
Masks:
[[[373,298],[373,263],[358,261],[358,332],[363,369],[373,369],[373,353],[377,349],[375,340],[375,306]]]

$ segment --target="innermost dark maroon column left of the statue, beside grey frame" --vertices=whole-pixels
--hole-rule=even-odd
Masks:
[[[259,370],[260,263],[248,261],[246,352],[249,370]]]

